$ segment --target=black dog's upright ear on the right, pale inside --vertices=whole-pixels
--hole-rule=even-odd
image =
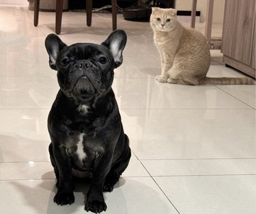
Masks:
[[[123,63],[123,50],[126,46],[127,35],[123,30],[115,30],[107,37],[107,39],[102,42],[102,45],[109,48],[111,51],[114,61],[115,67],[119,67]]]

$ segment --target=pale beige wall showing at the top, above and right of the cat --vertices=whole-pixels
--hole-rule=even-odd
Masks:
[[[197,0],[197,10],[201,11],[200,22],[205,21],[206,7],[208,0]],[[193,0],[176,0],[175,9],[191,10]],[[214,0],[213,23],[223,23],[225,0]]]

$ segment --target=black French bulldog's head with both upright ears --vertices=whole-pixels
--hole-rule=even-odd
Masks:
[[[57,70],[61,91],[77,101],[89,102],[106,94],[113,82],[113,70],[123,62],[126,33],[116,30],[102,44],[64,44],[55,34],[46,37],[49,65]]]

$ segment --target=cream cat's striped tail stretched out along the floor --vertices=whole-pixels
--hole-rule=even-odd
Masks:
[[[255,80],[247,77],[205,77],[199,80],[199,85],[255,85]]]

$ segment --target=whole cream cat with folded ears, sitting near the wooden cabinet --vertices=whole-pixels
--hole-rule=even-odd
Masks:
[[[255,84],[251,78],[209,78],[210,49],[205,37],[177,21],[177,10],[152,7],[150,25],[160,52],[159,82],[184,85]]]

